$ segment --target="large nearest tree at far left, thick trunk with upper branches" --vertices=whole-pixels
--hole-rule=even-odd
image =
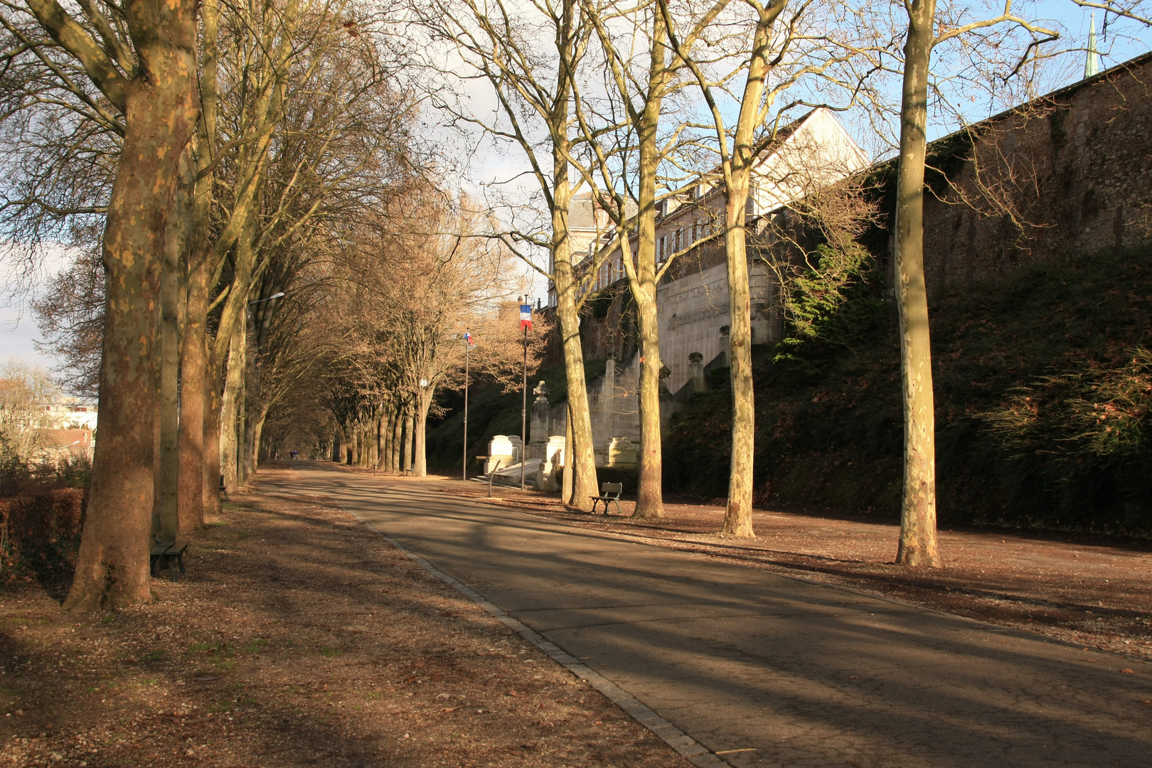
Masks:
[[[100,440],[76,577],[65,601],[69,610],[90,610],[151,599],[152,307],[176,169],[198,105],[195,3],[97,2],[77,12],[55,0],[28,0],[6,6],[0,23],[18,40],[21,55],[36,56],[58,78],[60,91],[123,136],[103,238],[107,303]],[[60,53],[69,56],[70,70],[54,67]],[[81,71],[100,98],[76,83]]]

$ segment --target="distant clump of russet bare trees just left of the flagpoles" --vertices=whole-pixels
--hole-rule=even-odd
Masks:
[[[362,220],[334,265],[332,351],[313,373],[328,382],[336,461],[424,477],[427,419],[437,393],[463,383],[465,353],[473,377],[506,387],[539,365],[548,326],[520,334],[528,283],[491,229],[469,198],[426,184]]]

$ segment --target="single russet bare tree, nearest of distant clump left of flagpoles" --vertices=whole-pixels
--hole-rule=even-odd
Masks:
[[[520,345],[513,353],[509,344],[509,336],[518,334],[501,328],[501,321],[513,322],[498,309],[524,286],[509,263],[511,253],[482,236],[490,226],[467,210],[467,199],[457,206],[435,190],[416,189],[403,210],[394,208],[365,233],[344,267],[342,345],[362,382],[357,417],[378,431],[385,391],[410,402],[417,477],[427,473],[424,429],[437,389],[454,386],[463,373],[464,330],[479,340],[476,370],[505,379],[510,368],[518,370]],[[518,330],[518,322],[514,327]],[[533,328],[533,368],[546,333],[543,325]]]

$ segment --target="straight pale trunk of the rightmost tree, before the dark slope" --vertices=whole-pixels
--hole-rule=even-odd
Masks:
[[[904,401],[904,493],[896,562],[938,567],[932,345],[924,287],[924,152],[935,0],[912,0],[904,44],[896,183],[896,305]]]

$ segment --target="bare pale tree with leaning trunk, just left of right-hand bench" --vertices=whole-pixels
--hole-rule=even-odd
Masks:
[[[584,377],[584,351],[579,335],[579,307],[596,279],[596,269],[581,274],[569,231],[573,195],[581,180],[571,177],[574,78],[588,48],[591,28],[576,0],[532,3],[510,8],[501,0],[438,2],[431,13],[417,16],[434,39],[448,41],[452,52],[472,73],[488,83],[498,100],[493,119],[471,114],[460,105],[440,104],[453,120],[478,127],[487,137],[520,149],[546,207],[543,227],[517,226],[499,236],[533,269],[547,277],[556,294],[568,403],[573,426],[575,481],[564,503],[590,509],[597,495],[592,421]],[[551,38],[544,43],[544,38]],[[540,51],[548,50],[541,56]],[[548,254],[547,266],[533,251]]]

